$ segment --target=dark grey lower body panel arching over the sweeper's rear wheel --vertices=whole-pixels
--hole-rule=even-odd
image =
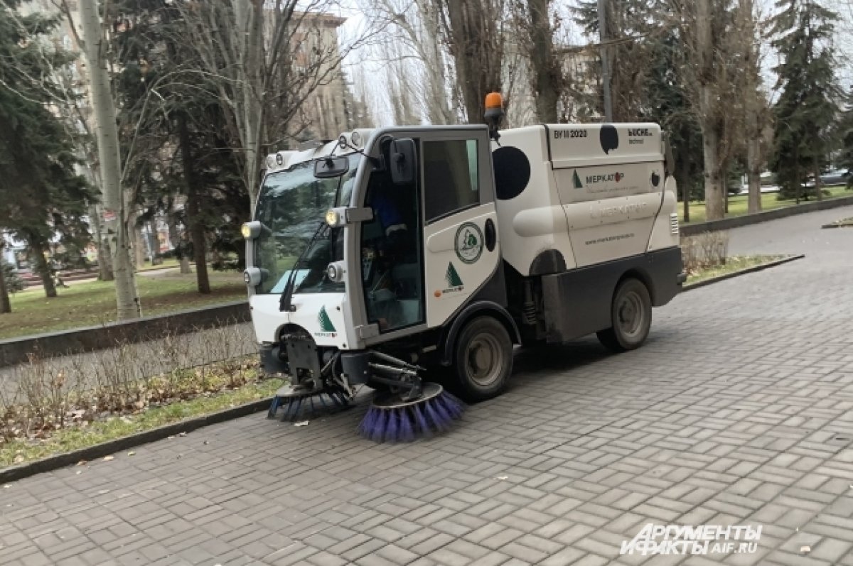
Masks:
[[[681,250],[670,247],[543,276],[547,341],[559,344],[609,328],[613,292],[625,274],[642,280],[649,289],[653,306],[662,306],[679,292],[677,278],[681,271]]]

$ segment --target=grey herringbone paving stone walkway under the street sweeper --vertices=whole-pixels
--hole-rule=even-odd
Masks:
[[[733,230],[735,253],[806,257],[676,297],[635,352],[521,351],[505,395],[428,442],[361,440],[362,403],[0,487],[0,563],[853,565],[853,229],[820,228],[850,216]],[[762,533],[620,555],[647,523]]]

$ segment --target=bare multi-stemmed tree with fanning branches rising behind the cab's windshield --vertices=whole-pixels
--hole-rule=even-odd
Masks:
[[[365,37],[339,48],[329,38],[334,0],[210,0],[177,3],[187,22],[183,43],[197,51],[215,81],[232,136],[241,143],[241,172],[252,207],[264,152],[288,139],[299,108],[338,72]]]

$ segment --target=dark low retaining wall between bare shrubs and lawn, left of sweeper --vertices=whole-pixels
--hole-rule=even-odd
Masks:
[[[103,326],[74,328],[0,340],[0,367],[27,361],[27,355],[73,355],[113,348],[116,344],[136,344],[161,338],[165,332],[184,334],[203,328],[247,322],[251,319],[248,301],[223,303],[171,313],[146,316],[133,321],[110,322]]]

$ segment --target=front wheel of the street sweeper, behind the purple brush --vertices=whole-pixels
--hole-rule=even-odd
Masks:
[[[453,370],[457,393],[477,402],[499,396],[513,373],[513,341],[490,316],[469,321],[456,338]]]

